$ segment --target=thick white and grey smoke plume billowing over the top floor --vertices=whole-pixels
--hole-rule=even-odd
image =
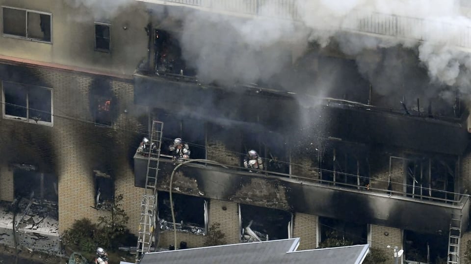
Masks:
[[[130,2],[67,1],[76,6],[93,6],[93,10],[103,12],[115,12]],[[235,0],[234,5],[248,6],[249,2]],[[467,33],[471,30],[471,20],[467,17],[471,9],[466,3],[458,0],[287,0],[286,3],[296,4],[286,12],[277,5],[281,1],[257,2],[264,3],[258,7],[259,16],[245,17],[169,7],[168,17],[182,21],[183,25],[164,29],[179,32],[183,57],[203,82],[259,83],[324,95],[335,86],[333,82],[344,80],[344,76],[350,74],[346,71],[352,69],[340,66],[340,60],[321,63],[313,58],[306,62],[310,58],[307,51],[315,43],[320,50],[335,45],[353,58],[356,70],[382,96],[394,96],[397,88],[406,90],[400,96],[396,94],[398,97],[410,93],[414,98],[425,100],[437,94],[452,100],[453,93],[446,91],[449,87],[470,92],[471,60],[463,51],[471,47],[471,39],[465,38],[471,35]],[[158,12],[154,15],[164,17]],[[272,19],[280,17],[284,19]],[[377,25],[382,29],[378,31]],[[292,71],[293,63],[298,66],[296,72]],[[412,89],[419,91],[412,92]]]

